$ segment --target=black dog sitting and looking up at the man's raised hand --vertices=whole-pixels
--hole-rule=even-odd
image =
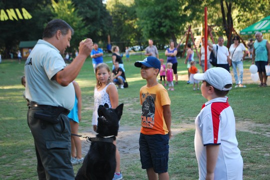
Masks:
[[[112,180],[116,168],[115,150],[112,143],[117,136],[123,104],[116,109],[107,104],[98,107],[96,138],[91,138],[91,146],[84,157],[75,180]]]

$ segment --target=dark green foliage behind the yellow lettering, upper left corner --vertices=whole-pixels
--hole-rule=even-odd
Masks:
[[[46,5],[50,0],[33,1],[33,0],[2,0],[0,9],[10,9],[24,7],[31,19],[14,19],[0,21],[0,54],[2,58],[8,58],[9,52],[14,55],[18,50],[18,44],[24,40],[37,40],[42,37],[43,24],[47,22],[50,12]]]

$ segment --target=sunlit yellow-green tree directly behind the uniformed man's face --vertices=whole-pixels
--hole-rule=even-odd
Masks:
[[[86,38],[89,26],[85,25],[82,17],[78,15],[78,10],[75,9],[71,0],[58,0],[58,2],[51,0],[51,3],[53,18],[63,19],[74,29],[70,48],[67,50],[70,51],[76,48],[82,39]]]

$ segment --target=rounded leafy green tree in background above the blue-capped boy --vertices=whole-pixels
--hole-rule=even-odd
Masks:
[[[184,28],[179,0],[135,0],[137,23],[145,38],[167,42],[176,41],[176,35]]]

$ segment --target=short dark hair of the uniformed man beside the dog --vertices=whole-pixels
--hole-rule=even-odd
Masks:
[[[69,29],[71,30],[71,35],[73,35],[74,30],[68,23],[62,19],[53,19],[46,25],[42,38],[52,37],[57,32],[57,30],[60,30],[63,35],[66,35]]]

